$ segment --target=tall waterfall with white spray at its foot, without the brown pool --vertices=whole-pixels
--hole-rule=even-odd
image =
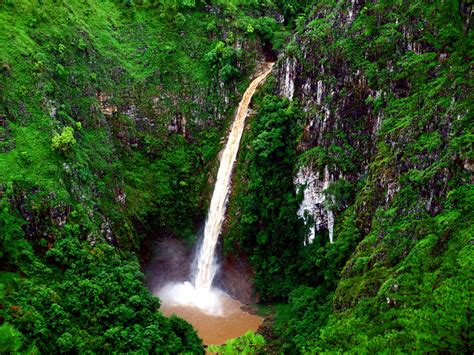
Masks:
[[[252,81],[237,109],[217,173],[216,185],[204,227],[204,238],[196,255],[196,261],[193,263],[192,282],[166,285],[158,292],[163,301],[198,307],[211,314],[222,314],[219,300],[225,293],[212,288],[212,281],[218,269],[215,249],[222,232],[227,200],[231,190],[232,169],[237,158],[250,100],[258,85],[270,74],[272,66],[273,63],[268,63],[264,71]]]

